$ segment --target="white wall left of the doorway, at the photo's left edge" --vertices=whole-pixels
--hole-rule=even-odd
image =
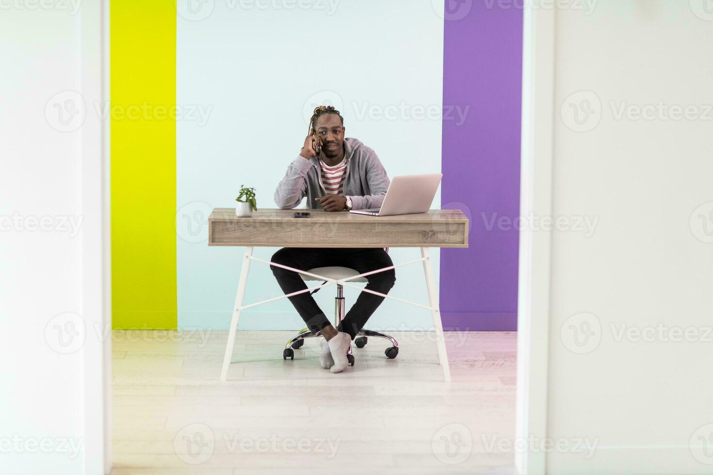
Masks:
[[[89,140],[85,136],[83,141],[80,122],[74,122],[81,115],[69,115],[66,109],[63,124],[55,108],[71,108],[67,101],[78,97],[63,91],[88,89],[76,3],[4,2],[0,12],[3,474],[81,474],[88,466],[81,447],[93,421],[84,409],[96,408],[97,401],[85,400],[83,341],[95,338],[89,345],[97,352],[91,360],[102,361],[96,333],[86,328],[82,338],[81,327],[81,313],[90,311],[82,294],[83,272],[93,267],[87,260],[91,255],[83,253],[90,239],[79,221],[87,209],[82,192],[88,178],[81,151]],[[100,2],[87,3],[96,15]],[[98,21],[92,29],[98,32]],[[90,39],[98,52],[101,44]],[[98,144],[98,135],[95,139]],[[89,226],[97,229],[96,216],[92,218]],[[97,259],[101,266],[101,255]],[[93,318],[101,315],[87,315],[86,320]],[[90,464],[98,471],[92,473],[101,472],[101,375],[96,383],[99,403],[92,417],[100,421],[100,437],[91,442],[99,447]]]

